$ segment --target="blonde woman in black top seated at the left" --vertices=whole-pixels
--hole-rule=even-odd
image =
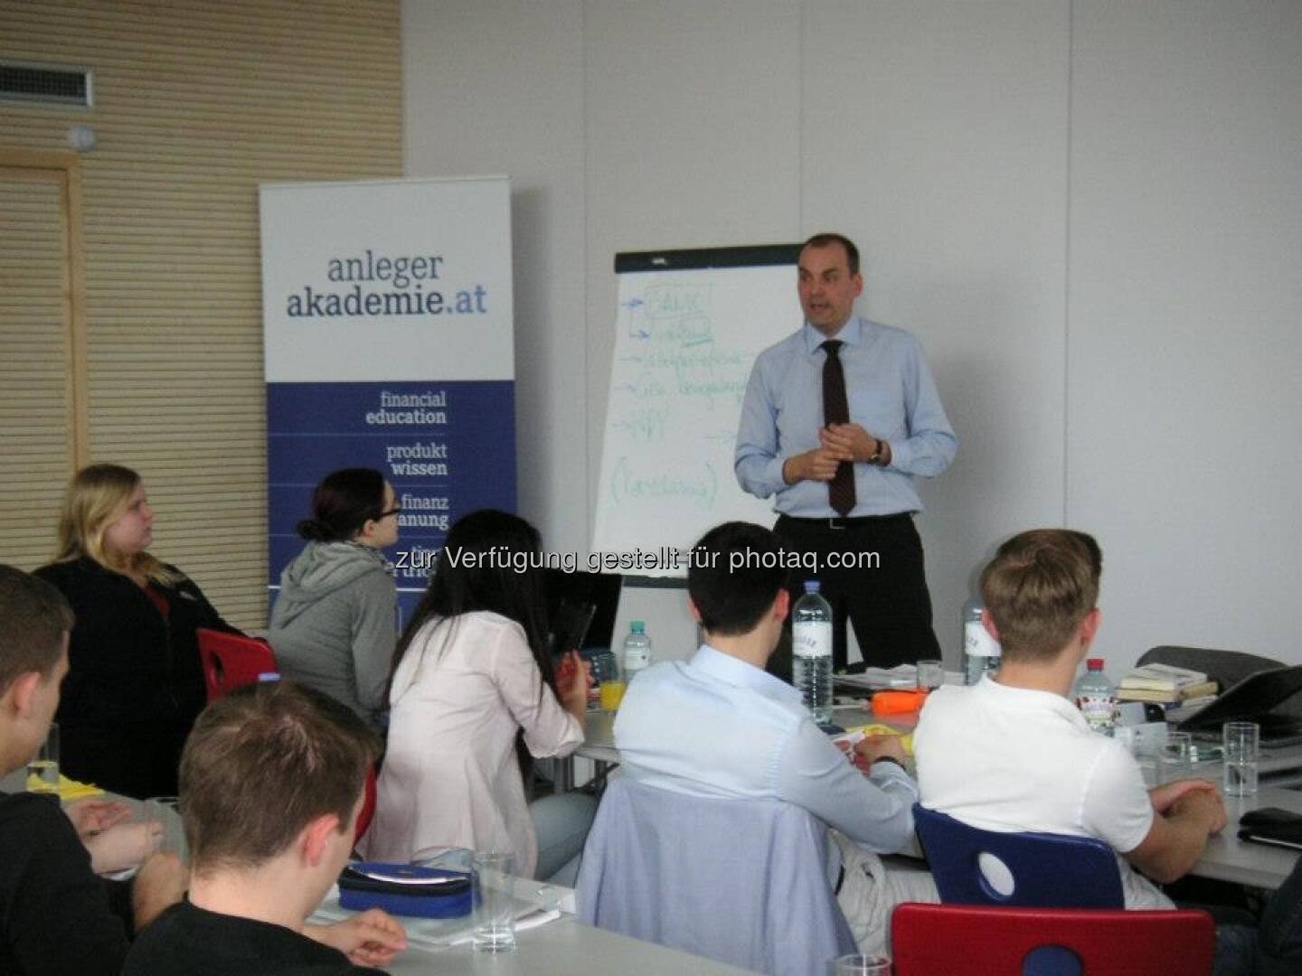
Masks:
[[[195,630],[234,631],[184,573],[150,554],[152,541],[141,476],[91,465],[68,485],[55,561],[36,570],[77,616],[55,716],[60,765],[141,798],[177,793],[181,746],[206,700]]]

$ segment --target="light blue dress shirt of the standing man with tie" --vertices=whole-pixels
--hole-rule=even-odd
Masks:
[[[921,511],[915,475],[939,475],[958,439],[940,403],[922,346],[902,329],[850,318],[837,333],[850,420],[891,444],[891,465],[854,466],[850,515]],[[755,359],[737,427],[737,481],[775,510],[797,518],[837,515],[827,484],[783,480],[783,462],[819,446],[825,336],[809,323]]]

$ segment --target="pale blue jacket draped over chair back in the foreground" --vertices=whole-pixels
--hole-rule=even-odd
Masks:
[[[754,972],[823,972],[855,951],[827,843],[825,826],[789,803],[613,779],[583,848],[578,914]]]

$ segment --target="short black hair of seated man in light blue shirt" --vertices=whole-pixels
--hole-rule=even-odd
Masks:
[[[777,536],[750,522],[724,522],[700,536],[687,567],[687,592],[712,634],[749,634],[786,583]]]

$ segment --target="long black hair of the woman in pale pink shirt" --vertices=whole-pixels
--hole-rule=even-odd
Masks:
[[[464,613],[491,610],[525,629],[543,681],[555,690],[555,669],[547,644],[547,604],[536,558],[540,547],[538,530],[519,515],[480,509],[457,519],[439,552],[430,587],[402,631],[392,670],[397,671],[411,640],[427,621],[436,618],[454,626]]]

